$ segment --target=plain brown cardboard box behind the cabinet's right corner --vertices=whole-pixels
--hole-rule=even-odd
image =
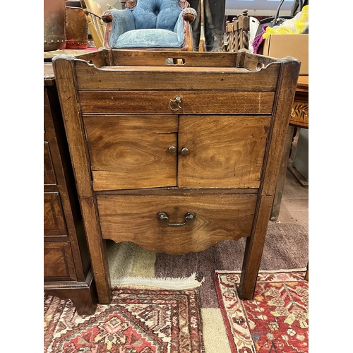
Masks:
[[[263,55],[301,61],[299,76],[309,75],[309,35],[270,35],[263,41]]]

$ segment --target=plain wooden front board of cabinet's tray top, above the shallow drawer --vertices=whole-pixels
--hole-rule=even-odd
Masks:
[[[85,56],[90,57],[89,55]],[[131,90],[131,82],[133,82],[134,90],[151,90],[151,87],[155,87],[160,90],[268,92],[275,91],[279,70],[280,66],[273,64],[266,68],[266,71],[253,71],[251,73],[253,79],[249,80],[249,71],[234,66],[225,67],[222,70],[220,66],[197,67],[199,74],[196,75],[195,66],[164,64],[164,66],[151,68],[150,66],[131,66],[130,63],[126,66],[105,66],[97,69],[95,65],[88,64],[86,61],[76,63],[77,85],[80,90]],[[116,71],[119,71],[119,80],[114,79],[112,75]],[[158,75],[155,74],[156,71]]]

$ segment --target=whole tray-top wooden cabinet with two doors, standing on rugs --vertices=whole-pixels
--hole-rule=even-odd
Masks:
[[[239,295],[253,297],[300,63],[183,52],[165,64],[175,55],[53,60],[102,304],[104,239],[181,254],[246,237]]]

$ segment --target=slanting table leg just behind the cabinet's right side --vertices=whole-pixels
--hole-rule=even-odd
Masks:
[[[278,216],[280,215],[280,207],[282,202],[283,190],[285,189],[285,179],[286,179],[287,167],[288,167],[288,162],[290,157],[290,151],[292,148],[293,135],[294,135],[294,126],[289,125],[287,137],[285,140],[285,148],[282,154],[280,173],[278,174],[275,197],[273,198],[273,206],[272,206],[272,211],[270,215],[270,220],[272,221],[276,221],[278,219]]]

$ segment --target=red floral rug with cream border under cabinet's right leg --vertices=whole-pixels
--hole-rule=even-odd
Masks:
[[[240,271],[216,271],[215,287],[232,353],[309,351],[309,285],[303,272],[263,271],[253,300],[235,289]]]

